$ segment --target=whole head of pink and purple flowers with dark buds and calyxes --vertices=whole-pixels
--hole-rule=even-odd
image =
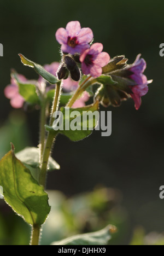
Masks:
[[[45,65],[44,69],[55,75],[58,80],[63,80],[62,92],[72,94],[73,108],[85,106],[90,97],[86,89],[96,84],[99,87],[94,91],[94,98],[104,107],[120,106],[122,101],[132,98],[135,108],[139,109],[141,97],[147,94],[148,84],[152,82],[143,74],[147,63],[140,54],[131,65],[127,65],[124,55],[110,59],[109,54],[103,52],[101,43],[93,43],[92,30],[88,27],[81,28],[79,21],[71,21],[66,28],[58,28],[55,36],[61,44],[61,62]],[[23,75],[18,78],[21,83],[29,83]],[[83,82],[79,82],[80,78]],[[37,81],[33,81],[33,84],[42,94],[54,89],[54,85],[50,85],[41,76]],[[4,94],[14,108],[23,106],[25,100],[20,95],[18,84],[13,77]]]

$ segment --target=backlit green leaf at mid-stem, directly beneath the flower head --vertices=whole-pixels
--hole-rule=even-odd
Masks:
[[[67,136],[71,141],[80,141],[91,135],[99,120],[99,102],[91,104],[83,108],[64,108],[62,107],[61,113],[63,118],[60,119],[58,132]],[[57,127],[57,126],[56,126]],[[75,129],[73,130],[72,127]],[[54,127],[46,126],[46,130],[54,131]]]

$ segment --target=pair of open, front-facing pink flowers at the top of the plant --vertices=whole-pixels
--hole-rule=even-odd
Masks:
[[[79,21],[71,21],[65,28],[58,28],[56,40],[61,44],[64,54],[79,54],[81,69],[84,74],[99,77],[102,67],[110,60],[109,54],[102,52],[101,43],[90,44],[93,32],[90,28],[81,28]]]

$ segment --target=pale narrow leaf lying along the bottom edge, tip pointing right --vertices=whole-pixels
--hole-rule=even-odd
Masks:
[[[54,242],[52,245],[108,245],[111,234],[116,230],[112,225],[97,232],[75,235],[64,240]]]

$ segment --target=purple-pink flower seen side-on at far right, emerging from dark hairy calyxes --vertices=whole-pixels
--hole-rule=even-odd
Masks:
[[[140,54],[137,56],[136,60],[132,64],[130,68],[128,68],[129,71],[132,72],[132,74],[129,76],[134,82],[137,83],[137,85],[130,86],[132,90],[131,97],[134,100],[135,108],[138,110],[141,105],[141,97],[146,95],[149,88],[148,84],[152,83],[153,80],[148,81],[147,77],[143,74],[147,67],[147,63],[144,59],[140,59]]]

